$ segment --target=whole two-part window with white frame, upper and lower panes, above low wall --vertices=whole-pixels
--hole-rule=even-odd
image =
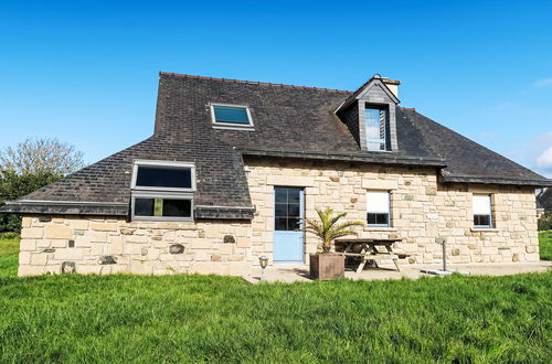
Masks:
[[[132,168],[132,220],[191,221],[195,167],[188,162],[137,160]]]

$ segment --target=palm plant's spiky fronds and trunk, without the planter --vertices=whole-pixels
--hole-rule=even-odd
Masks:
[[[333,245],[333,240],[338,237],[347,236],[347,235],[358,235],[357,232],[352,231],[352,226],[363,226],[364,224],[361,222],[344,222],[338,224],[338,222],[347,216],[347,213],[333,214],[333,210],[327,207],[326,210],[316,210],[319,222],[305,218],[306,227],[305,231],[307,233],[311,233],[322,240],[322,250],[328,253],[331,250],[331,246]]]

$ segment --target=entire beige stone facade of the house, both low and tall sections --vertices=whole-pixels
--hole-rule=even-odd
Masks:
[[[131,272],[247,275],[258,256],[273,264],[274,186],[305,189],[307,217],[327,206],[365,222],[367,191],[391,192],[391,227],[359,227],[359,237],[401,238],[403,264],[437,264],[446,238],[452,263],[539,260],[535,196],[530,188],[443,184],[432,168],[246,160],[256,207],[250,222],[127,222],[123,218],[26,216],[20,275]],[[495,227],[476,229],[473,193],[492,195]],[[319,242],[308,235],[305,261]]]

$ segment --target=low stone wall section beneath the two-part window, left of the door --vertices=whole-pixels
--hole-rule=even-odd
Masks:
[[[246,275],[252,259],[247,222],[128,223],[121,218],[26,216],[19,275]]]

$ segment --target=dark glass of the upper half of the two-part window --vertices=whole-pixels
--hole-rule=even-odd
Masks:
[[[192,172],[189,168],[139,165],[137,186],[191,189]]]

